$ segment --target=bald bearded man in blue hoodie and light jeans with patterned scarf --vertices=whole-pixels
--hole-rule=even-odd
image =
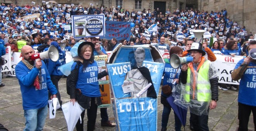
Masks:
[[[56,98],[57,90],[41,60],[31,60],[35,51],[29,45],[21,49],[23,60],[15,67],[16,77],[21,86],[22,106],[26,127],[24,131],[41,131],[48,113],[48,91]],[[35,66],[34,66],[35,65]]]

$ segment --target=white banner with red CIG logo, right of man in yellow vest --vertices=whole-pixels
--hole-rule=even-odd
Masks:
[[[242,56],[232,57],[231,55],[218,55],[215,54],[216,61],[212,62],[214,67],[220,71],[220,76],[218,77],[219,83],[234,84],[239,85],[239,81],[233,81],[231,78],[231,73],[235,68],[235,65],[239,60],[243,59]]]

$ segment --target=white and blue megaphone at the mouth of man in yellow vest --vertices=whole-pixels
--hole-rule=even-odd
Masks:
[[[192,56],[179,57],[176,54],[172,54],[171,57],[170,57],[170,64],[171,64],[171,67],[173,67],[174,69],[177,69],[183,63],[189,63],[189,62],[192,62],[192,61],[193,61]]]

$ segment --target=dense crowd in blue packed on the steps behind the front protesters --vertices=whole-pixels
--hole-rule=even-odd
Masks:
[[[56,5],[56,6],[55,6]],[[157,24],[156,32],[149,32],[151,35],[150,40],[146,40],[146,44],[150,43],[159,43],[161,37],[165,37],[165,44],[171,45],[170,41],[176,42],[176,35],[184,35],[185,39],[181,41],[181,45],[185,45],[186,38],[190,38],[190,30],[193,29],[203,29],[209,31],[212,37],[215,37],[217,40],[223,40],[225,45],[228,39],[234,39],[238,37],[240,32],[245,31],[245,26],[240,26],[237,22],[233,22],[227,16],[227,10],[217,11],[199,11],[193,10],[178,10],[175,9],[171,12],[169,9],[165,13],[157,13],[156,10],[146,10],[145,8],[142,11],[129,11],[128,9],[124,10],[119,6],[114,8],[107,7],[95,7],[92,4],[86,7],[82,5],[5,5],[2,3],[0,7],[0,33],[2,41],[6,45],[12,47],[12,51],[18,51],[17,47],[14,46],[17,43],[17,40],[21,39],[21,35],[28,35],[29,45],[38,47],[40,44],[44,44],[43,38],[49,38],[51,41],[58,41],[66,39],[67,46],[73,46],[76,42],[81,39],[74,39],[72,36],[64,38],[65,35],[72,33],[71,30],[64,30],[64,25],[71,25],[71,15],[105,15],[106,20],[109,21],[123,21],[123,22],[133,22],[135,26],[132,28],[131,39],[130,41],[122,42],[123,45],[132,44],[144,44],[141,39],[145,30],[149,28],[152,24]],[[34,13],[40,13],[38,18],[35,20],[28,21],[22,20],[21,17],[31,15]],[[21,20],[19,20],[21,18]],[[36,30],[36,31],[35,31]],[[29,32],[33,32],[33,34]],[[37,37],[37,38],[36,38]],[[245,39],[253,38],[253,34],[245,32]],[[7,40],[9,39],[9,40]],[[86,40],[86,38],[84,38]],[[237,48],[241,48],[246,42],[244,39],[237,39]],[[107,40],[108,44],[113,48],[116,43],[119,41],[112,39]],[[113,42],[114,41],[114,42]],[[116,42],[115,42],[116,41]],[[124,40],[123,40],[124,41]],[[121,41],[120,41],[121,42]],[[28,43],[27,43],[28,44]],[[35,45],[36,44],[36,45]],[[67,51],[70,48],[67,49]],[[111,48],[108,49],[110,51]],[[224,51],[224,50],[223,50]],[[224,53],[224,52],[223,52]],[[238,54],[240,55],[240,54]]]

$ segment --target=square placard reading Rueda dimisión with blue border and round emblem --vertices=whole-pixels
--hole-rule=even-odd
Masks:
[[[72,15],[74,38],[105,36],[104,15]]]

